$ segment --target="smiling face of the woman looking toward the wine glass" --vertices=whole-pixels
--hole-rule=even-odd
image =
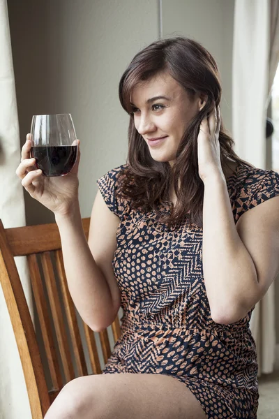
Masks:
[[[135,128],[149,147],[152,159],[172,166],[179,142],[205,103],[190,98],[169,73],[159,73],[137,84],[131,95]]]

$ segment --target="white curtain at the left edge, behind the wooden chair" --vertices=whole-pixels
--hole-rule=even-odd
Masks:
[[[22,185],[15,175],[20,162],[20,133],[6,0],[0,0],[0,218],[5,228],[24,226]],[[17,270],[31,307],[26,258]],[[30,419],[29,399],[20,355],[0,286],[0,419]]]

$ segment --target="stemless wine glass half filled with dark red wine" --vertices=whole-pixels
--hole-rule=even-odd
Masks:
[[[75,126],[70,114],[33,115],[31,157],[43,175],[64,176],[77,160]]]

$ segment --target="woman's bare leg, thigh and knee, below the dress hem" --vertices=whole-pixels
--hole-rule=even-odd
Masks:
[[[193,393],[160,374],[100,374],[75,378],[45,419],[206,419]]]

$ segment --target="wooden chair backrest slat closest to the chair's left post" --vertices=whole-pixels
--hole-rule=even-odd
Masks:
[[[47,355],[47,363],[50,369],[50,377],[52,379],[52,386],[54,390],[62,388],[62,378],[59,370],[59,362],[55,351],[54,338],[52,335],[52,328],[50,325],[50,318],[47,311],[47,302],[43,290],[43,282],[38,268],[36,255],[27,256],[29,265],[29,273],[33,297],[36,304],[38,319],[40,322],[40,330],[43,337],[45,353]]]

